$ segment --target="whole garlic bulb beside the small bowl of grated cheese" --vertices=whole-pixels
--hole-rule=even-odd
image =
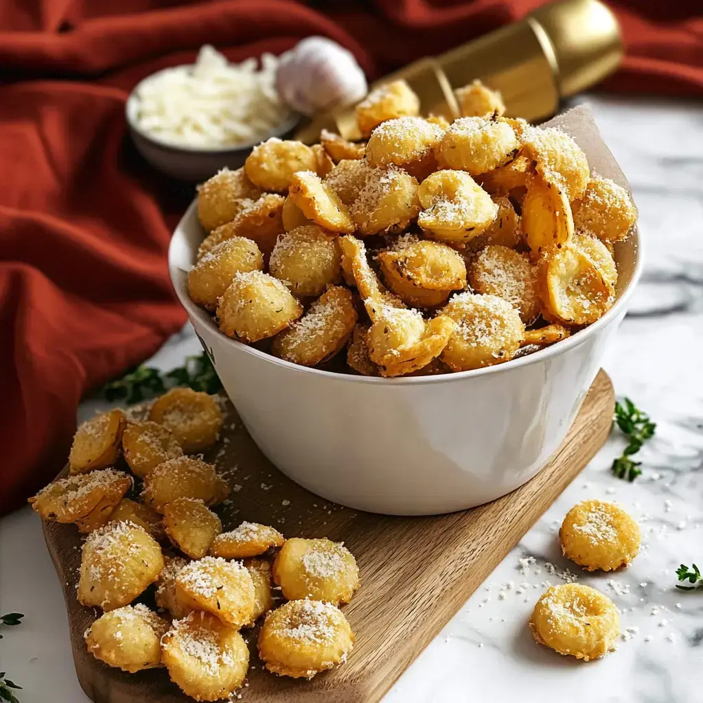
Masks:
[[[351,105],[366,96],[366,77],[350,51],[325,37],[303,39],[280,57],[278,95],[303,115]]]

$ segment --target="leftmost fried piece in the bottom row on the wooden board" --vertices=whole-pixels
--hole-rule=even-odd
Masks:
[[[161,666],[161,638],[169,628],[146,605],[125,605],[104,613],[86,631],[84,638],[93,657],[108,666],[136,673]]]

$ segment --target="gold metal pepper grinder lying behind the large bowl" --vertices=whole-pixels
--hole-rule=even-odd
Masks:
[[[424,114],[459,117],[453,90],[474,79],[501,92],[510,117],[534,122],[557,112],[560,101],[614,71],[623,48],[617,19],[598,0],[562,0],[538,8],[524,20],[423,58],[371,86],[405,79],[418,94]],[[359,139],[354,108],[342,108],[300,129],[296,138],[313,142],[321,129]]]

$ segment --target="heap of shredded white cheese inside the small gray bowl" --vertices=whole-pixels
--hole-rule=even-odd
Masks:
[[[276,91],[278,58],[228,63],[203,46],[194,65],[155,73],[136,91],[136,127],[172,146],[239,146],[261,141],[290,117]]]

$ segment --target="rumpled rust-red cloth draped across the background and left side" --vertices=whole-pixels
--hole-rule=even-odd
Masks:
[[[510,22],[540,0],[0,1],[0,514],[63,465],[86,390],[153,354],[185,315],[165,253],[193,195],[124,138],[129,89],[205,43],[231,60],[309,34],[370,77]],[[703,94],[699,0],[621,0],[617,91]]]

